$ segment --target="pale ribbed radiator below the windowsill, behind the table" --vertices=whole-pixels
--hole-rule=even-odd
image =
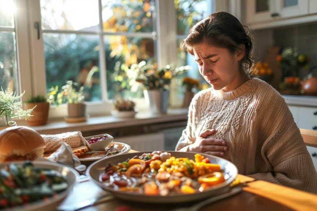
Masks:
[[[126,143],[131,146],[131,149],[143,151],[162,151],[164,150],[164,134],[149,133],[144,135],[125,136],[116,138],[113,141]]]

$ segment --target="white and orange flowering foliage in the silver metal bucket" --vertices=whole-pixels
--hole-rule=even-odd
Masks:
[[[141,61],[139,64],[131,65],[127,70],[127,76],[132,91],[137,90],[140,85],[147,90],[167,90],[172,78],[183,74],[190,68],[188,65],[175,67],[174,64],[171,64],[158,70],[156,63]]]

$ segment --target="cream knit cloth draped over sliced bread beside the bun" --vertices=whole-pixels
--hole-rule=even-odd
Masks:
[[[44,152],[55,151],[64,142],[70,147],[86,146],[85,138],[82,136],[80,131],[41,135],[45,142]]]

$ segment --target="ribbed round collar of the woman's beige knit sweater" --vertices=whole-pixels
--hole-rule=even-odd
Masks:
[[[256,87],[256,84],[259,83],[259,79],[257,78],[251,78],[244,82],[242,85],[240,85],[235,90],[225,92],[223,90],[214,90],[216,93],[216,96],[224,99],[224,100],[232,100],[235,99],[241,95],[243,95],[246,92],[249,92],[250,90],[254,90]]]

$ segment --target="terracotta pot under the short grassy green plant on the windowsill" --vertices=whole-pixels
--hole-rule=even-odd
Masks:
[[[32,109],[36,105],[36,108],[32,111],[31,115],[27,118],[28,125],[45,125],[49,118],[49,103],[48,102],[27,102],[23,103],[23,109]]]

